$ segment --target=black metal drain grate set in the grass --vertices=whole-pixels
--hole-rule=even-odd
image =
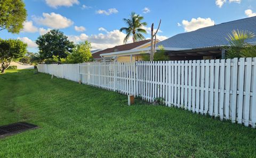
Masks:
[[[0,138],[17,134],[25,130],[36,129],[36,128],[38,128],[38,126],[28,124],[26,122],[18,122],[15,124],[0,126]]]

